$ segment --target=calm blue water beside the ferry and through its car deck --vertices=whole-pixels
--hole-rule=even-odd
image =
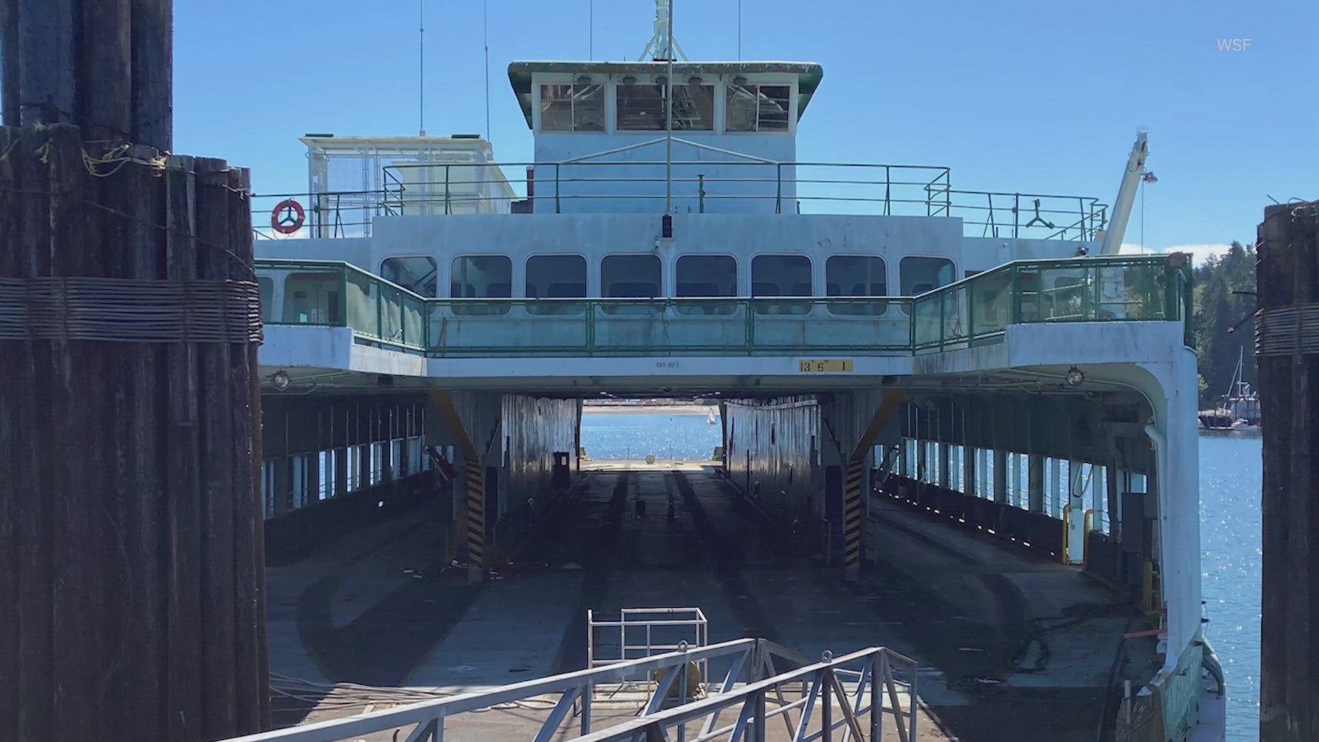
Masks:
[[[586,415],[582,446],[594,459],[707,459],[719,425],[703,415]],[[1200,434],[1200,545],[1208,636],[1228,679],[1228,739],[1258,739],[1258,434]]]

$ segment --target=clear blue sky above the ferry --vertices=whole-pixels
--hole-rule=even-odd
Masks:
[[[426,4],[426,129],[485,132],[480,0]],[[532,158],[513,59],[634,59],[653,4],[487,0],[491,141]],[[305,132],[414,135],[417,0],[175,3],[174,149],[306,190]],[[737,0],[675,0],[692,59],[737,58]],[[798,158],[952,168],[954,187],[1111,202],[1138,127],[1154,250],[1254,240],[1272,195],[1319,198],[1319,3],[743,0],[744,59],[824,79]],[[1249,38],[1241,51],[1219,40]],[[1138,206],[1137,206],[1138,209]],[[1141,242],[1140,211],[1128,243]],[[1199,247],[1202,256],[1212,247]]]

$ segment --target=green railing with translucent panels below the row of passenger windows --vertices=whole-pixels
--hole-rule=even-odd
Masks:
[[[917,297],[426,298],[340,261],[257,273],[268,325],[435,356],[909,355],[1018,323],[1184,321],[1190,298],[1163,256],[1018,260]]]

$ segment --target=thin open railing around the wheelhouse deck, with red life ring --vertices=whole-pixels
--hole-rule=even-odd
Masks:
[[[423,164],[384,168],[380,190],[253,195],[259,238],[282,238],[272,210],[298,201],[291,236],[369,236],[376,217],[679,213],[956,217],[967,236],[1087,242],[1108,207],[1091,197],[954,189],[947,168],[851,162],[663,161]],[[508,177],[521,173],[522,177]],[[508,195],[506,186],[524,195]]]

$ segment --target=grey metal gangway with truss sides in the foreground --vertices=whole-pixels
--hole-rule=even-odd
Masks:
[[[703,697],[696,697],[695,689],[686,688],[690,676],[686,668],[692,663],[727,664],[728,669],[720,683],[706,684]],[[634,718],[605,727],[592,725],[598,685],[645,677],[654,679],[654,689]],[[915,684],[915,660],[885,647],[839,658],[826,652],[819,661],[810,663],[801,652],[766,639],[736,639],[707,647],[683,646],[649,658],[251,734],[230,742],[347,742],[390,731],[393,737],[380,738],[443,742],[446,725],[451,733],[459,731],[459,721],[455,721],[459,714],[530,700],[547,701],[547,696],[558,698],[553,708],[547,706],[541,726],[528,731],[526,739],[914,742]],[[402,731],[408,735],[402,737]],[[503,730],[488,738],[517,737]],[[462,739],[484,737],[468,730],[462,733]]]

